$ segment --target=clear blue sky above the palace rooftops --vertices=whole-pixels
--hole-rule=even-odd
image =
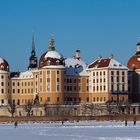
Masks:
[[[91,63],[113,53],[126,65],[140,36],[139,6],[140,0],[0,0],[0,57],[24,71],[34,31],[38,59],[53,34],[65,57],[80,49]]]

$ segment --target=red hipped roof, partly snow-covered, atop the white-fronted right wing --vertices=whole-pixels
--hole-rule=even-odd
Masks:
[[[93,61],[88,68],[121,68],[127,69],[126,66],[113,58],[100,58]]]

